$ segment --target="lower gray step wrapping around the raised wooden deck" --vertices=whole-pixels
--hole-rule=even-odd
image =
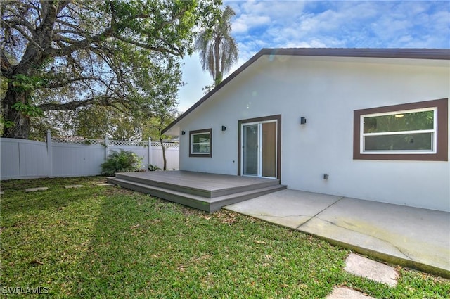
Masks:
[[[286,188],[285,185],[264,186],[262,188],[240,191],[236,193],[217,196],[214,198],[207,198],[205,196],[198,196],[191,193],[167,189],[160,186],[152,186],[140,182],[133,182],[127,179],[120,179],[117,177],[108,177],[107,181],[116,184],[126,189],[139,191],[142,193],[151,194],[152,196],[173,201],[174,203],[181,203],[192,208],[204,210],[207,212],[215,212],[225,205],[231,205],[240,201],[246,201],[250,198],[262,196],[264,194],[280,191]]]

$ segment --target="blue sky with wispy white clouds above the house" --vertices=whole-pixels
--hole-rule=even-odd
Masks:
[[[450,1],[224,0],[226,5],[236,12],[231,35],[239,50],[231,72],[262,48],[450,48]],[[182,70],[180,112],[212,84],[198,53],[184,58]]]

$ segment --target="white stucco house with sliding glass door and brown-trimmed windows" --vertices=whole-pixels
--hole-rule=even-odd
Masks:
[[[450,211],[450,49],[262,49],[165,129],[180,170]]]

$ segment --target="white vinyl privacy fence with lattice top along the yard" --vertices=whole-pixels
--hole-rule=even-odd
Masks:
[[[164,143],[167,169],[179,169],[179,144]],[[97,139],[59,139],[47,133],[46,142],[0,139],[0,179],[33,177],[82,177],[101,174],[101,164],[111,151],[133,151],[142,158],[142,167],[152,164],[162,169],[160,142]]]

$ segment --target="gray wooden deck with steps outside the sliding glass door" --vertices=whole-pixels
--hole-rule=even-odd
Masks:
[[[122,172],[108,182],[207,212],[286,188],[278,179],[181,170]]]

